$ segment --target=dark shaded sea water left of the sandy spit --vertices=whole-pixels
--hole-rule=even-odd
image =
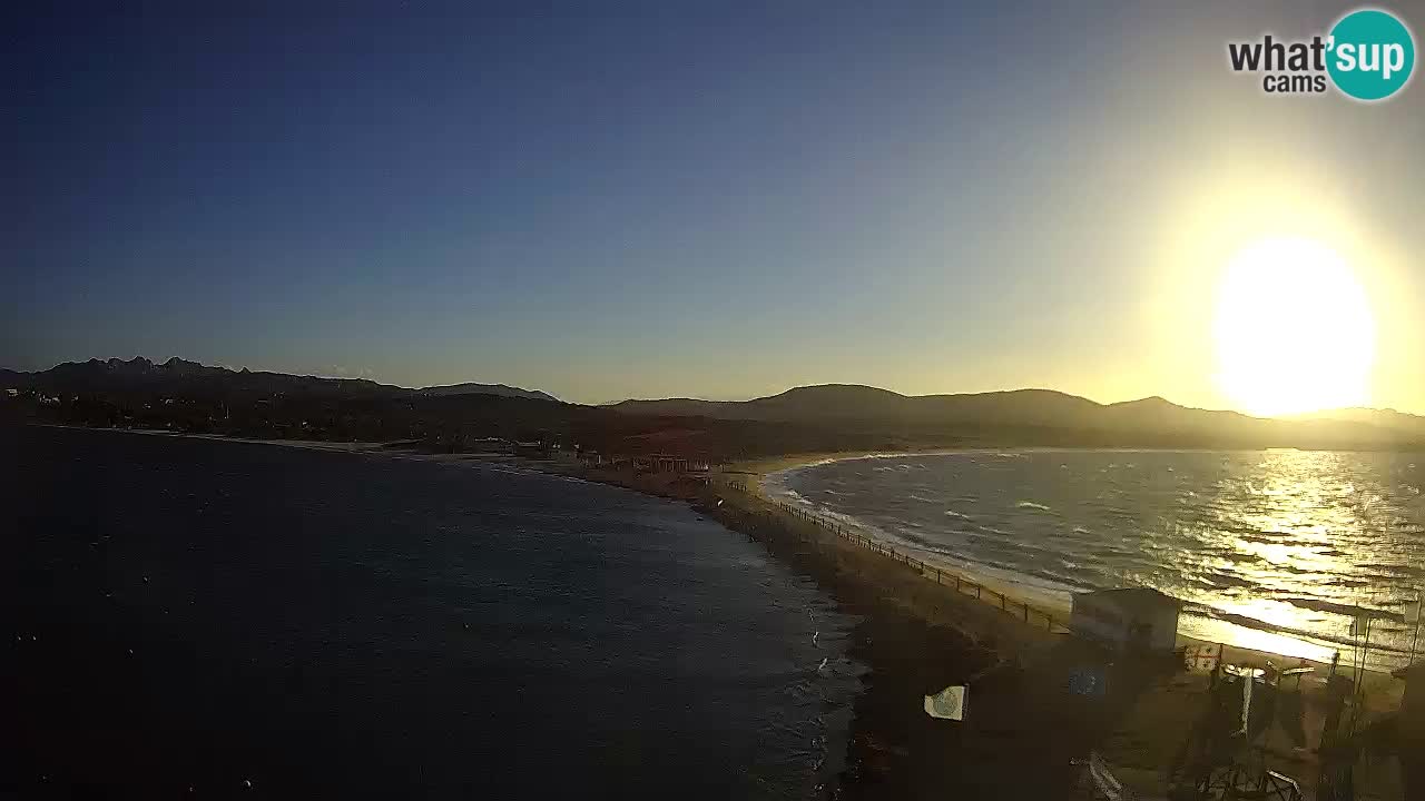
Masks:
[[[489,465],[0,436],[0,782],[23,795],[802,798],[845,754],[854,621],[683,506]]]

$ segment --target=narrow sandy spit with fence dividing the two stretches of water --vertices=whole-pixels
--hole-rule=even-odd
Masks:
[[[1206,693],[1207,671],[1194,668],[1141,688],[1126,707],[1116,708],[1112,714],[1106,713],[1104,720],[1097,721],[1097,727],[1073,717],[1054,717],[1054,713],[1037,707],[1019,708],[1016,704],[1035,697],[1035,683],[1027,680],[1036,676],[1035,666],[1057,658],[1064,641],[1072,637],[1054,626],[1043,626],[1037,619],[1035,619],[1037,624],[1027,623],[1023,617],[1032,617],[1029,607],[1025,607],[1023,617],[1019,616],[1013,604],[1023,601],[1017,599],[992,606],[975,596],[956,591],[953,586],[938,584],[933,577],[928,579],[928,563],[916,566],[912,564],[916,562],[913,559],[898,562],[854,539],[839,536],[812,520],[809,515],[799,516],[779,507],[762,487],[762,482],[774,472],[832,459],[871,458],[882,453],[818,453],[761,459],[734,465],[734,469],[722,473],[691,477],[596,469],[573,462],[494,453],[428,453],[388,448],[383,443],[254,440],[142,430],[125,433],[281,445],[453,465],[473,462],[517,466],[530,472],[606,483],[688,503],[695,512],[721,523],[725,529],[760,542],[771,557],[814,580],[845,611],[862,619],[855,627],[849,656],[866,664],[871,673],[862,696],[854,704],[845,771],[841,775],[839,795],[835,795],[838,798],[921,797],[945,792],[948,787],[970,781],[982,764],[996,764],[1002,757],[999,748],[1006,734],[1020,751],[1016,760],[1019,770],[1029,765],[1036,780],[1045,782],[1036,792],[1025,794],[1026,798],[1063,794],[1073,780],[1070,760],[1087,755],[1089,748],[1097,748],[1127,787],[1139,792],[1163,794],[1167,790],[1164,768],[1176,758],[1183,733],[1200,714]],[[959,450],[939,452],[959,453]],[[982,586],[990,586],[972,572],[953,570]],[[1003,597],[1015,599],[1013,590]],[[1007,610],[1015,610],[1016,614],[1006,614]],[[1066,621],[1067,616],[1062,620]],[[1178,641],[1188,646],[1206,644],[1181,634]],[[1268,660],[1278,666],[1297,661],[1295,657],[1231,646],[1224,648],[1224,660],[1257,666],[1264,666]],[[1311,664],[1324,667],[1324,663]],[[1318,676],[1324,676],[1324,671],[1318,670]],[[1043,678],[1040,674],[1039,680]],[[1389,701],[1394,698],[1398,704],[1401,688],[1399,683],[1392,684],[1392,681],[1385,674],[1368,674],[1372,708],[1382,701],[1387,707],[1395,708]],[[935,721],[921,710],[921,696],[938,693],[950,684],[975,687],[975,713],[972,713],[976,717],[975,724]],[[1322,706],[1324,691],[1311,686],[1304,687],[1304,694],[1308,698],[1307,731],[1320,733],[1321,715],[1317,707]],[[1043,698],[1040,704],[1043,706]],[[1015,717],[1020,721],[1017,728],[1006,731],[999,725],[993,738],[982,737],[983,733],[979,733],[976,725],[980,724],[980,718],[995,714],[989,710],[1016,710],[1005,711],[1000,717]],[[948,760],[948,751],[965,755],[966,761]],[[1298,778],[1304,788],[1315,784],[1315,757],[1311,753],[1274,744],[1268,761],[1273,770]],[[999,770],[1006,768],[1000,764]],[[966,785],[966,790],[970,787],[975,785]],[[888,792],[892,788],[893,791]]]

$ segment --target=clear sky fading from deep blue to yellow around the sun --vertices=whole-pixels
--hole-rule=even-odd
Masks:
[[[1295,235],[1369,298],[1371,403],[1425,413],[1425,84],[1227,64],[1351,4],[41,6],[3,11],[3,366],[1224,408],[1213,292]]]

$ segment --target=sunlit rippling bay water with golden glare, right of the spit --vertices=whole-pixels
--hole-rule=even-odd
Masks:
[[[1401,664],[1414,637],[1422,486],[1425,453],[1297,450],[884,456],[768,483],[1043,600],[1157,587],[1191,601],[1183,629],[1214,641],[1330,658],[1371,614],[1379,664]]]

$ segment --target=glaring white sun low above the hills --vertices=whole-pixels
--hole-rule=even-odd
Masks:
[[[1217,383],[1261,416],[1364,406],[1375,318],[1365,289],[1331,248],[1263,239],[1227,264],[1217,295]]]

